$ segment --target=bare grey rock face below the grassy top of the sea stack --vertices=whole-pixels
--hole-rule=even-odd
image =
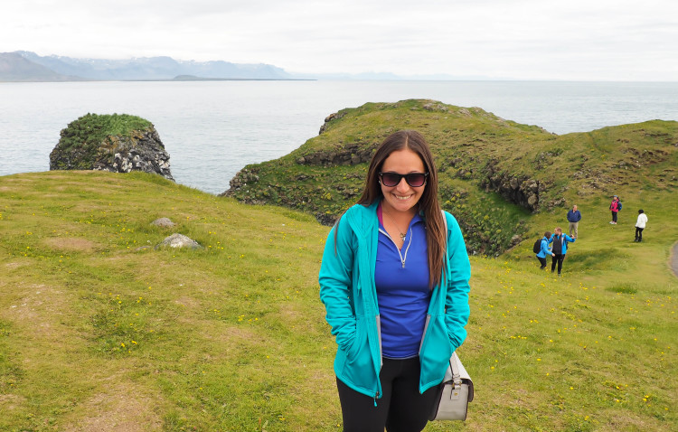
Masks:
[[[170,172],[170,156],[155,127],[135,130],[130,136],[106,136],[94,150],[61,146],[67,134],[68,129],[61,131],[59,144],[50,154],[50,170],[143,171],[174,181]]]

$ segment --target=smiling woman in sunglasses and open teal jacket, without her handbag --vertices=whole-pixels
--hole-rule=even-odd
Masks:
[[[334,224],[318,281],[344,431],[420,431],[466,339],[471,266],[419,132],[388,136]]]

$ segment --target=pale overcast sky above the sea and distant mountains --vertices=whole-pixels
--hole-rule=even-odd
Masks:
[[[288,72],[678,80],[677,0],[14,0],[0,52]]]

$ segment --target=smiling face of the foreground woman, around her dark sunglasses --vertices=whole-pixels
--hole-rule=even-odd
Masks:
[[[404,148],[392,152],[389,157],[384,159],[381,165],[381,172],[397,174],[426,173],[426,168],[418,154],[409,148]],[[391,213],[403,211],[413,214],[416,211],[415,207],[422,193],[424,193],[424,188],[426,188],[426,184],[420,187],[410,186],[404,177],[400,179],[400,183],[392,187],[381,184],[381,193],[383,193],[384,197],[381,205],[385,207],[386,211]]]

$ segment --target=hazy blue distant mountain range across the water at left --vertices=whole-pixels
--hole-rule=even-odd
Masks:
[[[34,52],[0,52],[0,81],[72,80],[294,80],[269,64],[177,61],[171,57],[129,60],[73,59]]]

